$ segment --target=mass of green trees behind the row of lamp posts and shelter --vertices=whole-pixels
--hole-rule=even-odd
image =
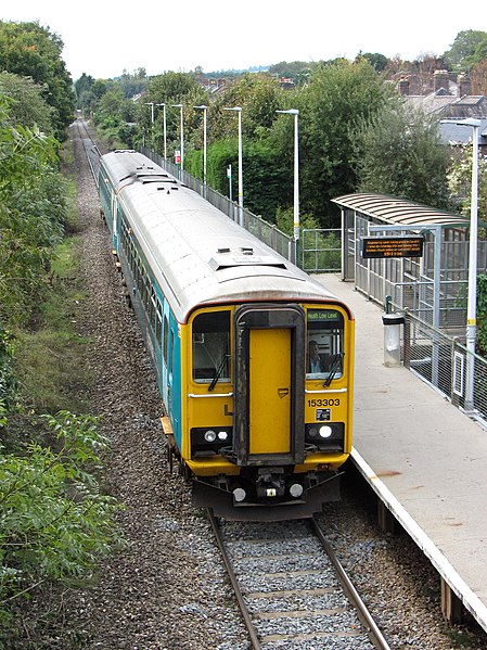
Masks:
[[[150,79],[143,68],[133,76],[124,72],[120,79],[92,82],[89,92],[94,98],[94,120],[113,142],[138,146],[143,141],[157,152],[163,150],[163,111],[156,104],[164,103],[170,158],[180,146],[180,113],[171,104],[182,103],[184,166],[200,178],[203,113],[194,106],[208,105],[207,181],[228,193],[227,168],[232,165],[234,197],[236,119],[225,109],[241,106],[245,204],[270,221],[293,204],[293,120],[279,116],[277,110],[298,109],[302,213],[329,227],[336,225],[338,216],[331,200],[358,188],[438,207],[448,204],[448,155],[436,125],[401,105],[389,81],[409,71],[427,88],[434,72],[447,63],[456,69],[470,65],[476,91],[487,91],[486,43],[487,33],[465,30],[443,56],[423,53],[412,62],[390,61],[379,52],[360,52],[353,62],[284,61],[268,73],[233,73],[228,87],[214,95],[201,86],[201,68]],[[283,90],[278,77],[292,78],[296,87]],[[128,99],[128,89],[134,92],[144,84],[141,98]]]

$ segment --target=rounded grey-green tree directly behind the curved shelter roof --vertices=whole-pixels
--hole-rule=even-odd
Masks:
[[[449,207],[450,154],[435,118],[399,98],[357,132],[356,166],[361,192],[390,194]]]

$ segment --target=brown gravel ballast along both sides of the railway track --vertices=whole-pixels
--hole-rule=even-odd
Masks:
[[[155,375],[124,297],[75,126],[71,135],[88,292],[79,328],[91,341],[93,410],[111,439],[104,486],[125,505],[119,525],[127,545],[77,588],[52,587],[34,595],[12,648],[247,649],[209,523],[192,507],[188,485],[166,467]],[[454,628],[444,623],[439,578],[409,538],[383,535],[371,502],[355,485],[345,485],[344,492],[341,504],[326,507],[321,525],[390,647],[487,648],[486,636],[474,636],[471,623]],[[252,524],[246,525],[251,530]],[[289,525],[292,530],[300,524]],[[287,552],[305,557],[298,535],[290,535]],[[247,569],[253,572],[252,564]],[[302,562],[291,561],[287,570],[302,570]],[[329,607],[330,599],[318,606]],[[324,637],[294,645],[275,641],[266,648],[349,650],[362,648],[360,643]]]

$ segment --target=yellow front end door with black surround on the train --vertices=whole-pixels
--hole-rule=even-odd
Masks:
[[[241,466],[304,462],[304,311],[235,313],[234,453]]]

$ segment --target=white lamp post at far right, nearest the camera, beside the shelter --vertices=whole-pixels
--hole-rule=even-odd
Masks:
[[[478,229],[478,128],[479,119],[462,119],[459,126],[472,127],[472,196],[470,205],[469,301],[466,306],[466,386],[465,411],[474,410],[475,341],[477,336],[477,229]]]

